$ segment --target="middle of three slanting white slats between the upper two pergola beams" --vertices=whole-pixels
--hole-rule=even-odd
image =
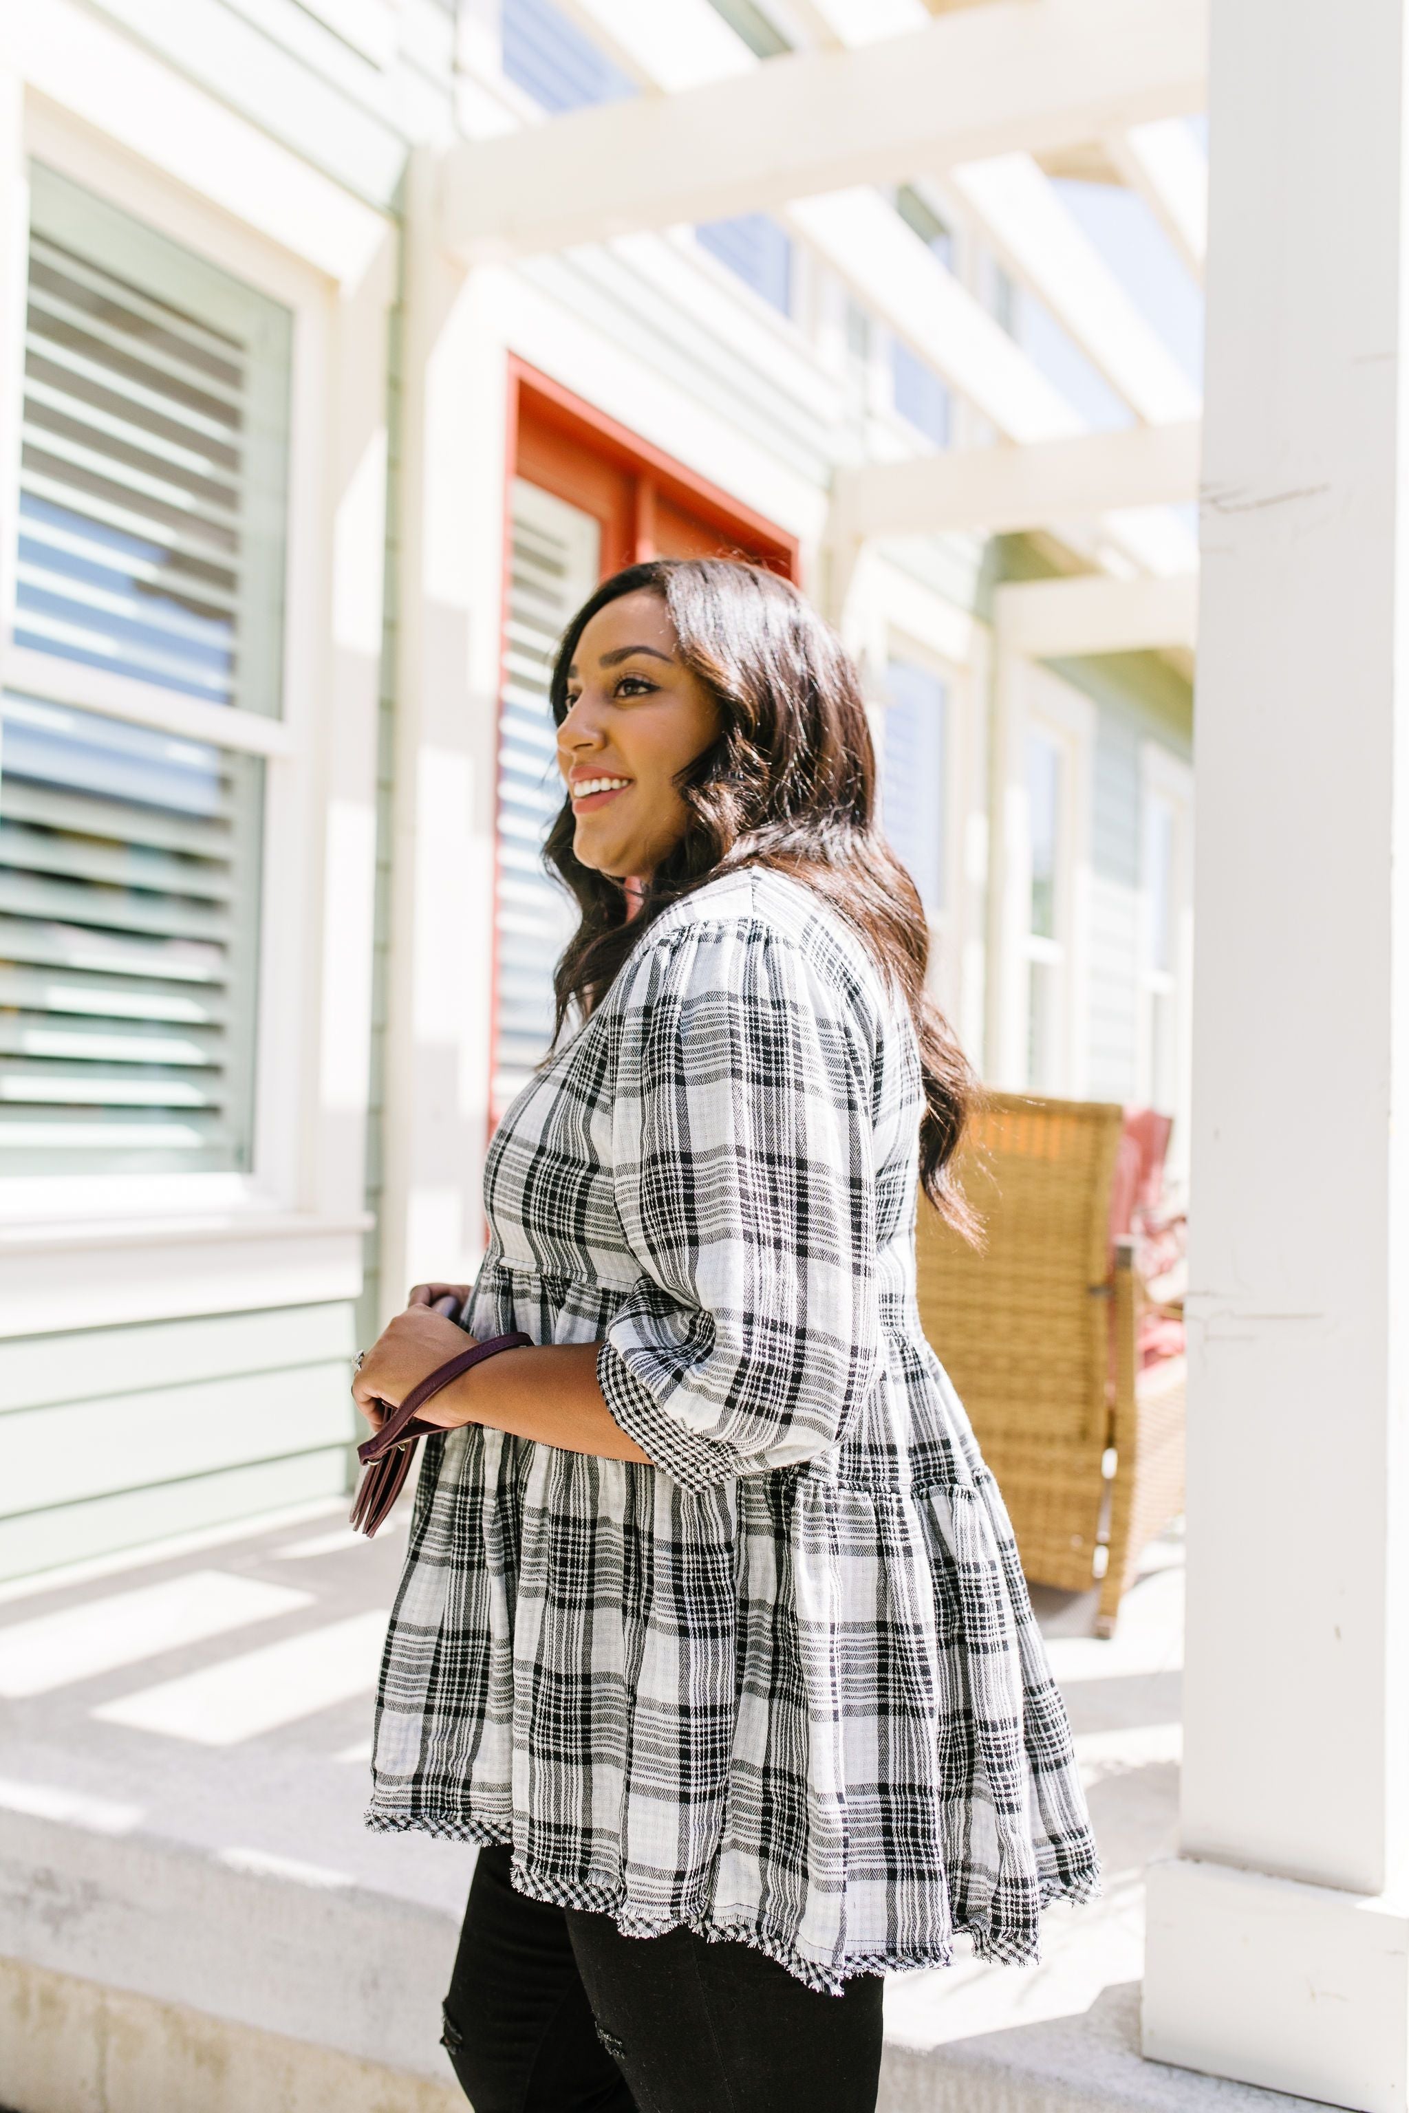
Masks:
[[[993,247],[1151,425],[1198,418],[1200,393],[1031,154],[967,163],[951,184]]]

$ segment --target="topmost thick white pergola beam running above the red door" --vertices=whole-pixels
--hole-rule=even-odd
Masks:
[[[591,4],[600,17],[606,0]],[[995,0],[463,139],[442,163],[444,239],[496,262],[1128,131],[1202,108],[1206,42],[1206,0]]]

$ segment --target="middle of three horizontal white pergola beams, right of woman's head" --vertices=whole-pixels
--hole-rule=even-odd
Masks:
[[[904,463],[864,463],[832,482],[837,532],[1012,535],[1092,520],[1117,507],[1198,497],[1200,427],[1132,427],[1014,448],[951,448]]]

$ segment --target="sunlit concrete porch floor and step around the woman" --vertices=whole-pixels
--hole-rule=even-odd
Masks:
[[[473,1849],[361,1826],[408,1507],[311,1507],[0,1587],[0,2105],[13,2113],[431,2113]],[[1183,1562],[1117,1635],[1035,1595],[1105,1897],[1037,1967],[896,1976],[885,2113],[1303,2105],[1139,2056],[1143,1872],[1175,1847]],[[820,2109],[822,2113],[822,2109]]]

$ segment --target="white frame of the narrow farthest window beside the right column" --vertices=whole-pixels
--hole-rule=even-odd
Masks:
[[[1170,917],[1172,917],[1172,966],[1160,974],[1153,966],[1153,887],[1149,856],[1153,849],[1153,809],[1164,805],[1172,814],[1172,860],[1170,860]],[[1134,1037],[1134,1090],[1143,1107],[1153,1103],[1156,1050],[1151,1027],[1151,995],[1156,989],[1172,999],[1168,1052],[1175,1095],[1175,1130],[1166,1158],[1166,1173],[1172,1179],[1187,1175],[1189,1152],[1189,1065],[1194,1029],[1194,769],[1183,756],[1160,742],[1141,742],[1141,917],[1136,951],[1136,1037]]]

